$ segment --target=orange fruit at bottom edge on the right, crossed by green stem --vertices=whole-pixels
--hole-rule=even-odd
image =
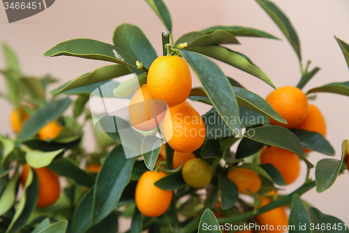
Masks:
[[[260,205],[258,208],[261,208],[262,206],[265,206],[272,202],[272,199],[260,197]],[[278,226],[281,226],[281,229],[283,226],[288,226],[288,216],[285,213],[284,207],[279,207],[276,209],[272,209],[271,211],[267,211],[265,213],[262,213],[261,215],[255,217],[255,219],[258,221],[260,226],[268,225],[268,230],[265,232],[285,232],[285,230],[277,230]],[[270,230],[270,227],[274,227],[274,230]]]

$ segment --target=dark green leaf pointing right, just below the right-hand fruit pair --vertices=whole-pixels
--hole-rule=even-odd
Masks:
[[[334,155],[334,148],[322,134],[318,132],[309,132],[303,129],[291,129],[291,131],[296,134],[304,148],[324,155]]]

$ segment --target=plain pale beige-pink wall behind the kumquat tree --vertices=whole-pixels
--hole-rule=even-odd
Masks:
[[[301,42],[304,64],[311,59],[320,72],[306,85],[304,90],[325,83],[349,80],[348,66],[343,58],[334,35],[349,42],[349,1],[347,0],[278,0],[274,1],[290,18]],[[217,0],[217,1],[170,1],[165,0],[172,15],[174,39],[189,31],[205,29],[214,25],[241,25],[265,30],[283,41],[266,38],[239,38],[242,45],[230,48],[244,52],[267,75],[277,87],[296,85],[300,78],[297,56],[285,40],[276,24],[255,1]],[[155,13],[145,1],[68,1],[57,0],[50,8],[20,22],[8,24],[5,10],[0,7],[0,41],[6,41],[19,56],[23,73],[42,76],[51,73],[59,78],[59,84],[87,73],[107,62],[79,59],[75,57],[43,57],[42,54],[61,41],[71,38],[94,38],[112,43],[112,34],[117,25],[128,22],[137,24],[144,30],[158,55],[161,55],[161,31],[165,29]],[[240,83],[262,97],[272,91],[272,87],[243,71],[227,64],[220,64],[227,76],[236,78]],[[0,55],[0,67],[3,68]],[[3,78],[0,90],[4,91]],[[58,84],[57,84],[58,85]],[[56,85],[56,86],[57,86]],[[194,78],[193,86],[199,82]],[[349,98],[337,94],[318,94],[313,101],[324,113],[327,120],[327,139],[336,150],[336,158],[341,157],[341,142],[349,138],[348,106]],[[200,113],[207,106],[196,104]],[[0,134],[10,133],[8,115],[10,105],[0,99]],[[91,133],[91,130],[87,133]],[[87,136],[85,145],[93,149]],[[325,156],[312,153],[314,164]],[[304,181],[305,164],[297,183],[290,185],[288,191],[297,189]],[[331,214],[349,223],[349,175],[339,176],[331,189],[317,194],[315,190],[304,195],[304,199],[323,213]]]

